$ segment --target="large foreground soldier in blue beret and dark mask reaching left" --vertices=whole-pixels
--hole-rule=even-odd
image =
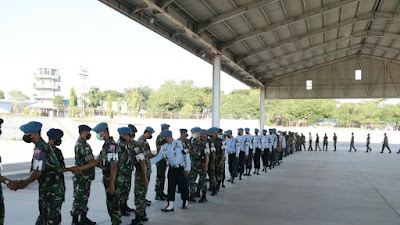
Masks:
[[[25,133],[23,140],[35,144],[31,163],[32,173],[29,178],[18,181],[11,189],[24,189],[38,180],[39,217],[36,224],[61,224],[61,204],[64,198],[62,170],[53,149],[41,138],[41,128],[42,124],[35,121],[20,127]],[[66,168],[63,171],[66,171]]]

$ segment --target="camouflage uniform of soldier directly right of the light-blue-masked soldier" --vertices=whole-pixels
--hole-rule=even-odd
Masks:
[[[129,155],[130,146],[121,139],[118,140],[118,145],[121,149],[118,163],[118,184],[120,184],[118,188],[121,190],[121,204],[125,204],[131,191],[133,166]]]

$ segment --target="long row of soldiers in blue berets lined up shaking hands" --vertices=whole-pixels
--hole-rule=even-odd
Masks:
[[[0,119],[0,135],[3,120]],[[254,161],[254,174],[259,175],[260,161],[263,161],[262,171],[280,165],[284,157],[293,154],[295,142],[290,141],[294,133],[286,135],[277,133],[275,129],[263,130],[263,135],[250,135],[250,129],[238,129],[238,135],[232,136],[232,131],[225,134],[219,128],[208,130],[194,127],[192,136],[188,138],[188,131],[181,129],[181,136],[173,140],[169,125],[162,124],[162,132],[157,137],[157,154],[154,155],[147,140],[154,133],[153,128],[146,127],[143,135],[136,141],[137,129],[133,125],[118,129],[119,139],[115,141],[110,136],[107,123],[99,123],[93,129],[87,125],[78,128],[79,138],[75,144],[75,166],[66,167],[64,157],[59,146],[62,143],[63,131],[50,129],[47,132],[48,142],[41,137],[42,124],[29,122],[20,127],[24,132],[23,140],[33,143],[33,157],[31,174],[25,180],[10,180],[0,175],[0,182],[11,190],[24,189],[34,181],[39,182],[39,216],[37,225],[61,224],[61,206],[65,201],[65,180],[63,173],[72,172],[73,176],[73,203],[70,212],[72,225],[96,224],[87,218],[88,199],[91,182],[94,180],[94,167],[101,168],[103,184],[106,193],[107,211],[112,224],[121,224],[121,216],[128,216],[135,212],[135,219],[131,224],[142,224],[148,221],[146,207],[151,201],[146,199],[148,184],[151,175],[151,165],[157,165],[156,199],[165,200],[168,205],[163,212],[174,210],[175,190],[182,197],[182,209],[188,207],[188,202],[207,202],[207,190],[215,196],[220,187],[225,187],[225,161],[228,160],[231,178],[251,176],[250,172]],[[102,150],[97,158],[87,142],[91,138],[91,131],[96,132],[96,138],[104,141]],[[286,148],[286,143],[289,143]],[[1,160],[1,158],[0,158]],[[1,162],[1,161],[0,161]],[[168,169],[168,195],[164,194],[166,167]],[[127,205],[131,189],[132,172],[134,173],[134,204],[136,209]],[[245,171],[246,169],[246,171]],[[208,179],[207,179],[208,175]],[[197,179],[198,178],[198,179]],[[198,180],[198,182],[196,182]],[[207,189],[207,182],[210,188]],[[201,194],[200,194],[201,193]],[[0,185],[0,224],[4,223],[4,198]]]

